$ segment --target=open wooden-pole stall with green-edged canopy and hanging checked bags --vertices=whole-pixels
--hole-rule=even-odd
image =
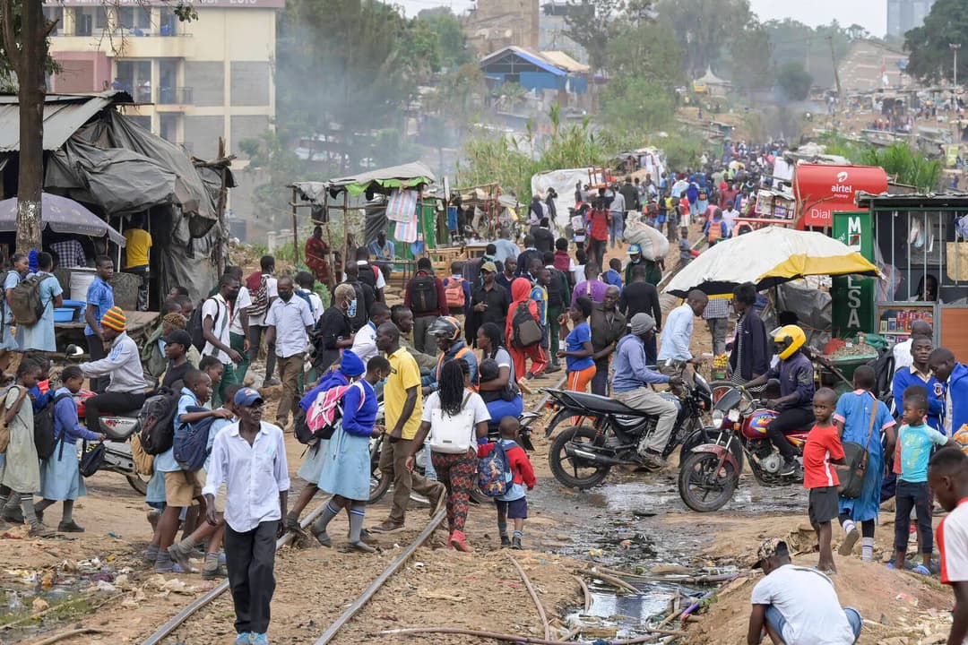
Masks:
[[[293,182],[292,188],[292,235],[295,257],[299,259],[299,239],[297,235],[296,214],[301,207],[310,207],[314,222],[324,224],[327,232],[327,244],[332,252],[332,234],[329,230],[329,211],[340,211],[344,215],[344,257],[348,257],[346,221],[351,212],[365,209],[366,237],[361,243],[376,238],[377,233],[387,230],[385,207],[374,203],[378,195],[389,195],[393,191],[420,189],[430,186],[437,181],[433,171],[420,161],[394,165],[359,173],[349,177],[339,177],[322,182]],[[342,203],[333,202],[342,196]],[[350,206],[350,198],[365,198],[367,204]],[[429,201],[429,203],[427,203]],[[422,240],[428,247],[436,244],[436,209],[434,200],[424,200],[418,204],[419,230]],[[392,232],[387,237],[393,239]],[[398,255],[406,257],[408,244],[396,241]],[[404,251],[404,252],[401,252]],[[335,266],[335,258],[329,258],[330,266]],[[330,285],[332,286],[332,285]]]

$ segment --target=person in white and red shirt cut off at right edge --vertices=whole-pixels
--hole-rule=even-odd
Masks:
[[[968,642],[968,456],[956,448],[939,450],[927,464],[927,483],[948,515],[936,531],[941,581],[952,586],[954,609],[948,642]]]

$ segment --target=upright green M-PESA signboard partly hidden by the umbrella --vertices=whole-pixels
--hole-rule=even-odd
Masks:
[[[868,211],[833,214],[833,237],[874,261],[874,225]],[[834,337],[874,329],[874,278],[836,276],[831,289]]]

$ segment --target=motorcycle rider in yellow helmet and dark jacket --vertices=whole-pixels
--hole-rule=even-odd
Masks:
[[[767,401],[767,407],[779,415],[767,425],[767,436],[783,456],[781,476],[798,473],[797,449],[786,440],[785,433],[813,423],[813,363],[802,352],[806,335],[797,325],[781,327],[773,334],[779,365],[746,384],[747,389],[763,385],[771,378],[780,380],[780,397]]]

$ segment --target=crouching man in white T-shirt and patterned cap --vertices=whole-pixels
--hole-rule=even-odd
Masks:
[[[773,643],[850,645],[861,635],[861,613],[841,607],[831,578],[790,562],[786,542],[768,538],[756,552],[753,569],[764,578],[753,587],[746,642],[757,645],[763,631]]]

